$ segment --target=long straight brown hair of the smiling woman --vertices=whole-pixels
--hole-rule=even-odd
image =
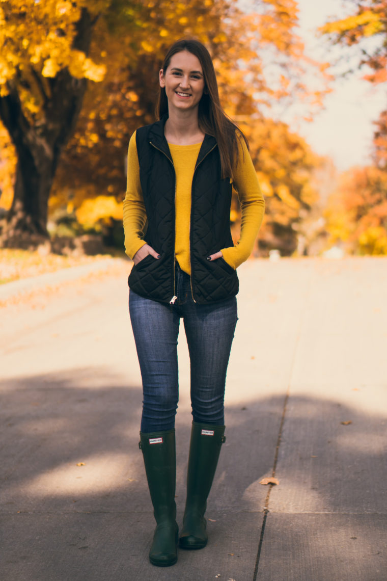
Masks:
[[[162,63],[162,70],[168,69],[171,58],[178,52],[188,51],[200,61],[204,76],[204,92],[198,107],[198,123],[200,130],[215,137],[220,154],[220,166],[222,178],[232,177],[232,167],[238,162],[238,139],[244,139],[248,147],[248,141],[243,132],[223,111],[219,101],[218,83],[216,82],[214,64],[211,56],[201,42],[193,39],[182,38],[176,41]],[[156,106],[157,119],[168,113],[168,98],[165,87],[160,87]]]

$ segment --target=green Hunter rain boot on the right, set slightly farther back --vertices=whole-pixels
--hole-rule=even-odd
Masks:
[[[225,426],[192,422],[187,475],[187,500],[180,547],[197,549],[207,544],[207,497],[214,480],[220,448],[226,438]]]

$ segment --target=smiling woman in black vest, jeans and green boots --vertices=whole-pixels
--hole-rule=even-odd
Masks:
[[[204,513],[225,441],[236,268],[251,253],[265,203],[247,140],[220,107],[214,66],[200,42],[180,40],[169,49],[157,116],[129,142],[124,229],[134,263],[129,311],[143,382],[139,446],[157,523],[149,557],[168,566],[177,561],[178,544],[207,544]],[[230,234],[232,184],[242,211],[236,245]],[[193,424],[179,541],[174,426],[180,318],[190,354]]]

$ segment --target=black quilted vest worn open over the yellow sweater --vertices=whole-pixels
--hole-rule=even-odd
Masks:
[[[129,287],[138,295],[173,303],[175,288],[175,169],[164,137],[166,117],[136,131],[140,182],[147,215],[144,240],[160,255],[146,256],[133,266]],[[238,292],[236,271],[222,258],[207,260],[233,246],[230,232],[230,179],[220,177],[219,150],[214,137],[205,135],[191,189],[191,292],[195,302],[212,303]]]

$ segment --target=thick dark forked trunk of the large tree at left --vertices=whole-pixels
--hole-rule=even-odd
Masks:
[[[92,21],[87,10],[82,10],[74,48],[88,52]],[[16,148],[17,171],[12,207],[8,214],[6,238],[37,235],[48,238],[48,199],[59,157],[74,131],[86,89],[86,79],[72,77],[67,69],[55,78],[49,78],[49,95],[39,74],[32,70],[41,89],[44,102],[42,116],[35,123],[23,113],[19,85],[9,83],[9,93],[0,97],[0,118]]]

